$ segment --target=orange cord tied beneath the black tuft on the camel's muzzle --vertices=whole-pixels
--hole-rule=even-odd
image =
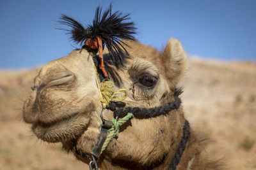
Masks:
[[[99,38],[99,36],[96,37],[96,39],[86,39],[84,42],[84,45],[89,46],[93,50],[97,49],[99,50],[99,57],[100,57],[100,69],[103,72],[105,78],[108,78],[108,73],[104,67],[104,60],[103,60],[103,46],[102,46],[102,39]]]

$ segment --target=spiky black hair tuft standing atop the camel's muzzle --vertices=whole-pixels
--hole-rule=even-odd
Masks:
[[[122,15],[119,11],[111,13],[111,5],[108,10],[102,13],[102,8],[97,7],[92,25],[84,28],[82,24],[73,18],[61,15],[58,23],[68,25],[71,29],[62,29],[72,35],[72,40],[83,45],[86,39],[95,39],[97,36],[102,39],[102,45],[106,45],[109,57],[117,68],[124,66],[129,53],[125,50],[123,40],[136,41],[136,27],[134,22],[127,22],[129,14]],[[85,46],[83,46],[85,48]]]

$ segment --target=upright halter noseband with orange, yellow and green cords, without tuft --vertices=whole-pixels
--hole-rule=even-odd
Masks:
[[[87,39],[84,43],[86,48],[92,48],[93,46],[93,49],[96,49],[95,46],[99,46],[100,65],[97,63],[97,59],[95,59],[95,57],[97,57],[96,53],[90,53],[90,55],[93,54],[92,57],[94,58],[93,69],[95,73],[97,88],[100,94],[100,102],[102,103],[102,109],[100,111],[100,118],[102,120],[102,125],[100,126],[100,133],[99,133],[97,144],[93,146],[92,153],[91,153],[92,156],[89,164],[90,169],[94,168],[95,170],[98,169],[97,160],[99,160],[100,154],[105,150],[106,146],[108,146],[111,139],[115,138],[118,135],[119,125],[124,124],[127,120],[133,117],[132,113],[127,113],[126,116],[119,121],[118,121],[118,116],[116,116],[116,118],[112,119],[111,121],[103,118],[102,112],[104,109],[108,107],[108,104],[110,102],[115,103],[115,102],[124,100],[127,96],[127,90],[120,89],[120,90],[117,90],[116,92],[113,92],[114,83],[109,79],[108,73],[104,68],[104,64],[103,64],[104,60],[103,60],[103,53],[102,53],[103,49],[102,49],[102,45],[99,45],[99,42],[102,42],[102,41],[99,39],[100,39],[99,37],[97,37],[97,39],[90,39],[90,40]],[[88,41],[90,41],[90,43],[87,43]],[[88,45],[92,45],[92,46],[88,46]],[[99,66],[99,69],[100,69],[101,85],[99,85],[97,68],[95,67],[95,65]],[[124,96],[115,97],[116,94],[120,94],[120,93],[124,93]],[[109,132],[109,136],[108,136],[108,132]]]

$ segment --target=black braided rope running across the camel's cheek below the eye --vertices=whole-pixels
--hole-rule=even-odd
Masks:
[[[175,97],[174,101],[164,104],[163,106],[159,106],[156,108],[138,108],[138,107],[127,107],[127,108],[120,108],[116,109],[115,103],[109,103],[107,107],[109,110],[114,112],[114,117],[125,117],[127,113],[132,113],[135,118],[150,118],[150,117],[157,117],[159,115],[165,115],[169,113],[171,110],[178,109],[180,106],[180,98]]]

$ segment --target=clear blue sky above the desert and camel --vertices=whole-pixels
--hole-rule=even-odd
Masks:
[[[136,38],[162,50],[169,38],[189,55],[221,60],[256,60],[256,1],[246,0],[22,0],[0,1],[0,69],[45,64],[79,47],[56,20],[61,13],[91,24],[95,8],[131,13]]]

